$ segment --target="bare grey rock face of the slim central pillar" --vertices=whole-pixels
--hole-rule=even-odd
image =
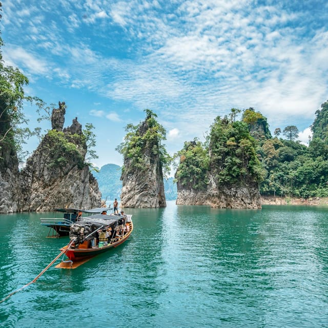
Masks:
[[[144,136],[149,129],[147,120],[139,127],[138,135]],[[166,207],[163,172],[159,155],[152,150],[157,141],[147,141],[142,148],[142,166],[135,166],[132,159],[125,157],[122,171],[122,193],[120,206],[127,208]]]

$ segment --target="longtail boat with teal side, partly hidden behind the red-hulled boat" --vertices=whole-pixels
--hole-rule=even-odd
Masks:
[[[70,227],[72,223],[79,221],[83,215],[92,215],[99,214],[102,212],[107,212],[112,210],[110,207],[104,208],[99,207],[90,210],[81,210],[74,208],[63,208],[63,209],[54,209],[55,217],[53,218],[40,218],[42,226],[46,226],[49,229],[47,237],[62,237],[68,236],[70,233]],[[61,213],[61,217],[56,217],[57,213]]]

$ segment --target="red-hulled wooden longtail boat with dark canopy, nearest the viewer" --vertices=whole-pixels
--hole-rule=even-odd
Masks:
[[[92,257],[124,243],[133,231],[132,215],[96,214],[70,227],[70,243],[61,248],[67,260],[56,268],[75,269]]]

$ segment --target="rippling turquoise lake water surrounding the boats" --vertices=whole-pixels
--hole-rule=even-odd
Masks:
[[[75,270],[53,265],[0,303],[2,326],[328,327],[328,208],[126,212],[126,243]],[[68,242],[46,238],[45,216],[0,215],[0,299]]]

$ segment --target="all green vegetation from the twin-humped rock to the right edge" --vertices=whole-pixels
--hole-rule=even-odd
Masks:
[[[276,128],[273,138],[267,118],[253,108],[219,116],[211,126],[209,147],[185,142],[176,179],[181,186],[206,190],[208,172],[218,184],[243,179],[259,183],[262,195],[328,197],[328,101],[316,112],[309,147],[295,141],[296,126]],[[282,134],[286,139],[278,138]]]

